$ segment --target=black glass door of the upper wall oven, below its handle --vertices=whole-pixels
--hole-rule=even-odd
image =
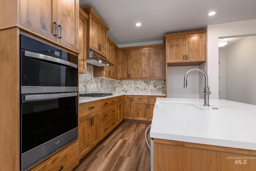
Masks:
[[[77,68],[24,56],[24,50],[21,53],[22,86],[78,86]]]

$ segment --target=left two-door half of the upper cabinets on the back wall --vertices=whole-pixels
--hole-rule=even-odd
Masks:
[[[140,62],[140,48],[122,48],[119,51],[119,78],[123,80],[140,79]]]

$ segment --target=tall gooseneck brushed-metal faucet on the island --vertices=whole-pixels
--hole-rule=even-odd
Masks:
[[[204,78],[205,78],[205,87],[204,87],[204,105],[205,106],[209,106],[209,94],[210,94],[210,87],[208,86],[208,76],[206,74],[206,72],[204,72],[204,70],[201,70],[199,68],[193,68],[191,70],[189,70],[188,72],[186,72],[185,76],[184,76],[184,88],[187,87],[187,77],[188,74],[192,71],[199,71],[202,74],[204,74]]]

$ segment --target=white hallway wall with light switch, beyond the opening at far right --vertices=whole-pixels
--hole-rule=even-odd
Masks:
[[[256,105],[255,73],[256,36],[249,36],[226,49],[226,99]]]

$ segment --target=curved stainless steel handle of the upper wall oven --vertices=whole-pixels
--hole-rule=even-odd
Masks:
[[[66,66],[77,68],[77,65],[73,64],[72,62],[68,62],[68,61],[65,61],[65,60],[62,60],[62,59],[59,59],[59,58],[54,58],[52,56],[48,56],[48,55],[44,55],[44,54],[38,54],[38,53],[35,53],[35,52],[30,52],[28,50],[25,50],[25,56],[40,59],[40,60],[56,62],[56,63],[63,64],[63,65],[66,65]]]

